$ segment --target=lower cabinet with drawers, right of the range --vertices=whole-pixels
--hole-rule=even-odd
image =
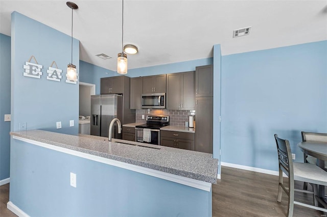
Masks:
[[[160,130],[160,145],[194,151],[194,133]]]

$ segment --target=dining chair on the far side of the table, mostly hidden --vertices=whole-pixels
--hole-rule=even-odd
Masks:
[[[304,132],[301,131],[302,142],[326,142],[327,143],[327,133],[319,132]],[[326,145],[327,148],[327,145]],[[304,162],[309,162],[310,164],[317,164],[317,158],[303,153]],[[327,168],[327,161],[325,161],[325,168]],[[308,189],[308,183],[303,182],[303,190]]]

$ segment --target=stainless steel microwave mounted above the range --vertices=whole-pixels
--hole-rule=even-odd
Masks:
[[[166,93],[142,94],[142,108],[166,108]]]

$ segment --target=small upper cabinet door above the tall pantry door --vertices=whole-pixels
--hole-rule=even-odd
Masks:
[[[195,92],[196,97],[213,96],[214,83],[213,65],[198,66],[195,68]]]

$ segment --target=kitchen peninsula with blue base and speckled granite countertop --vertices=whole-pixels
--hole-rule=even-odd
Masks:
[[[43,130],[10,134],[10,209],[31,216],[212,215],[218,159],[211,154]]]

